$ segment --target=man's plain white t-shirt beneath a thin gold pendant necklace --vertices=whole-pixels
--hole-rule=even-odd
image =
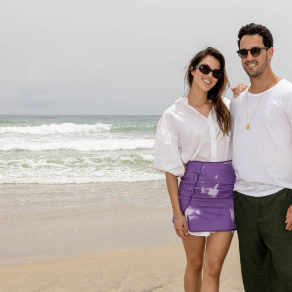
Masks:
[[[246,90],[233,98],[233,167],[235,190],[250,196],[266,196],[292,189],[292,84],[281,80],[262,93]],[[247,109],[250,128],[247,129]],[[256,109],[256,111],[255,111]]]

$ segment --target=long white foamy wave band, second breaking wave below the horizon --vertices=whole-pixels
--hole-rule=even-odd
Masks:
[[[18,141],[0,144],[0,151],[116,151],[154,148],[154,139],[100,139],[69,141]]]

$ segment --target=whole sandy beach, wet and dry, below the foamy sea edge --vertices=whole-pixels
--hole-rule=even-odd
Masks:
[[[159,202],[167,198],[164,182],[118,186],[1,185],[0,291],[183,291],[185,255],[168,203],[150,199],[101,208],[98,200],[88,204],[86,199],[89,191],[115,189],[124,195],[132,188],[155,190]],[[45,194],[57,207],[41,207],[45,201],[35,198]],[[16,196],[18,201],[9,200]],[[220,290],[244,291],[237,236]]]

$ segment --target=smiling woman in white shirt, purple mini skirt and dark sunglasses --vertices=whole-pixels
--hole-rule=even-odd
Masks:
[[[236,230],[224,56],[211,47],[200,51],[188,65],[186,80],[187,96],[159,121],[154,169],[166,174],[175,231],[183,239],[185,291],[218,291]]]

